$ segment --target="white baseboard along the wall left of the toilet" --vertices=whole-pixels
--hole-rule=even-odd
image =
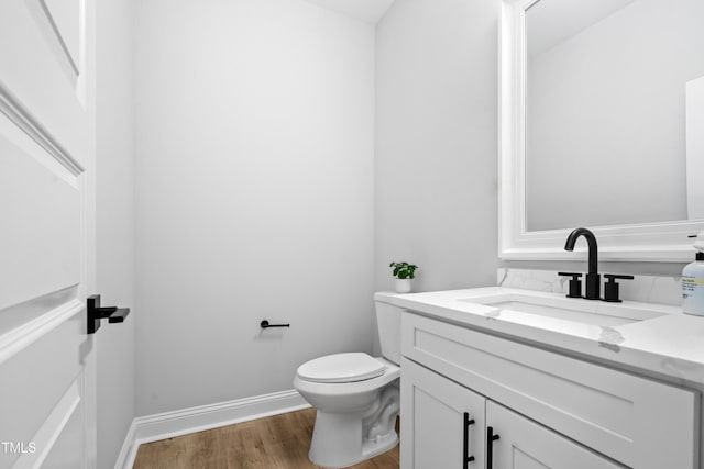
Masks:
[[[143,443],[173,438],[308,407],[310,407],[310,404],[300,397],[298,391],[292,389],[272,394],[238,399],[237,401],[136,417],[130,425],[114,468],[132,469],[136,451]]]

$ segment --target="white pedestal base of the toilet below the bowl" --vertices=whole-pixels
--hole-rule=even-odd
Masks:
[[[359,415],[318,411],[308,457],[318,466],[344,468],[378,456],[398,445],[398,434],[394,427],[386,435],[377,435],[373,439],[362,439],[362,432]]]

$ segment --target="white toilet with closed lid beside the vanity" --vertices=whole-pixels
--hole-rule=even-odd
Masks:
[[[327,355],[296,371],[294,387],[317,410],[308,457],[318,466],[352,466],[398,444],[402,310],[392,297],[374,295],[383,357]]]

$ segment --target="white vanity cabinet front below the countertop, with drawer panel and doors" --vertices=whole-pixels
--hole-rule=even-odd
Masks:
[[[402,324],[403,469],[698,468],[696,391],[410,312]]]

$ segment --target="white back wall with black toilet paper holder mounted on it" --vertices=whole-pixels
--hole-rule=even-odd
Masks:
[[[138,3],[138,413],[370,350],[373,26],[301,0]]]

